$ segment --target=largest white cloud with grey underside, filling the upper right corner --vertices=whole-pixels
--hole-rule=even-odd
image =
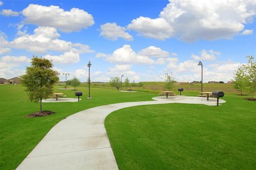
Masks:
[[[127,26],[145,37],[183,41],[230,39],[253,22],[255,1],[169,0],[159,18],[140,16]],[[248,32],[248,31],[246,31]]]

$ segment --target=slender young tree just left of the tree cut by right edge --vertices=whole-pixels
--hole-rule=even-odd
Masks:
[[[244,66],[237,69],[234,75],[234,88],[241,92],[241,96],[243,95],[243,91],[247,89],[247,85],[249,83],[249,79],[245,73]]]

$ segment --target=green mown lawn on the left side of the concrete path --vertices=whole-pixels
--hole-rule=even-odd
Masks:
[[[67,97],[75,97],[73,90],[58,90]],[[25,118],[25,115],[39,111],[39,103],[28,100],[20,85],[0,85],[0,169],[15,169],[47,132],[63,118],[84,109],[127,101],[151,100],[156,94],[146,92],[118,92],[114,89],[92,88],[91,100],[87,100],[88,89],[83,91],[79,103],[43,103],[43,110],[56,114],[46,117]]]

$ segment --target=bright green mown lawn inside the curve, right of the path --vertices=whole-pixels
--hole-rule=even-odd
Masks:
[[[136,106],[105,120],[119,169],[255,169],[256,102]]]

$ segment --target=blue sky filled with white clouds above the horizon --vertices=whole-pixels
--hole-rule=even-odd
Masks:
[[[0,77],[25,73],[32,56],[65,80],[229,81],[256,54],[256,2],[1,1]]]

